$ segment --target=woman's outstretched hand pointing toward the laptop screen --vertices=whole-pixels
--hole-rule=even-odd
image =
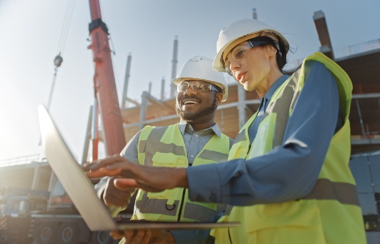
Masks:
[[[116,188],[141,188],[145,191],[159,192],[188,186],[185,168],[142,166],[121,156],[86,163],[83,167],[90,178],[118,177],[114,180]]]

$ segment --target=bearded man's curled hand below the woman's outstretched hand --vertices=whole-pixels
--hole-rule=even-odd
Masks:
[[[116,179],[116,177],[108,178],[103,192],[103,200],[107,206],[125,208],[129,204],[135,188],[118,186],[115,184]]]

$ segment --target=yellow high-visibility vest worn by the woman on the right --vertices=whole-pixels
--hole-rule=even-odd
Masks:
[[[241,224],[239,227],[212,230],[215,243],[366,243],[356,183],[348,167],[352,84],[344,70],[323,54],[315,53],[306,58],[301,67],[275,91],[249,148],[248,127],[256,118],[256,114],[252,115],[236,137],[229,159],[250,159],[281,146],[288,117],[292,115],[308,76],[308,60],[323,63],[334,74],[344,116],[343,127],[332,138],[312,192],[305,198],[284,203],[227,206],[226,215],[219,222],[237,221]]]

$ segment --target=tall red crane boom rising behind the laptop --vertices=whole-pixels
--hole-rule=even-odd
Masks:
[[[104,142],[108,156],[119,154],[125,145],[123,121],[117,98],[112,67],[108,29],[102,20],[99,0],[89,0],[91,23],[89,32],[95,66],[94,89],[103,121]]]

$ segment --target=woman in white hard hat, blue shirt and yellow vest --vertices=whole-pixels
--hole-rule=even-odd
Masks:
[[[106,175],[134,179],[120,179],[124,186],[188,187],[190,199],[233,205],[220,221],[241,225],[212,231],[216,243],[366,243],[348,167],[350,79],[321,53],[283,75],[288,50],[280,32],[255,19],[221,30],[213,68],[262,98],[229,161],[151,169],[113,159],[94,163],[88,175],[107,166]]]

